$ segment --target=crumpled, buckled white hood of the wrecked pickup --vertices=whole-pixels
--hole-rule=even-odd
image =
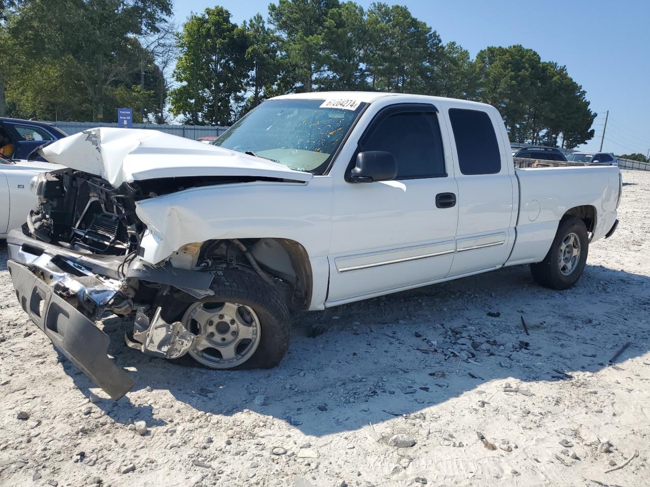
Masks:
[[[122,182],[183,176],[271,177],[309,181],[271,160],[147,129],[98,127],[57,140],[39,151],[49,162]]]

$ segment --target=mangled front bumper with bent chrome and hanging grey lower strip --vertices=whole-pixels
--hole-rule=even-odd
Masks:
[[[109,336],[92,318],[99,319],[105,310],[130,314],[134,305],[122,293],[124,280],[174,286],[196,299],[212,293],[210,273],[151,266],[137,257],[123,266],[124,256],[81,254],[19,230],[9,232],[7,244],[7,266],[23,310],[61,353],[116,400],[135,382],[108,358]],[[164,322],[159,312],[149,320],[139,311],[134,337],[140,343],[127,340],[129,346],[165,358],[187,351],[194,336],[180,323]]]

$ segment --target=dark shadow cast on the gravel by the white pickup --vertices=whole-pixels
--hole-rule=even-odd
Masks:
[[[612,297],[613,288],[623,292]],[[149,405],[143,390],[149,387],[168,390],[198,411],[255,410],[308,435],[348,431],[417,413],[495,379],[525,387],[567,379],[558,371],[595,372],[610,366],[628,341],[617,361],[642,355],[650,347],[640,323],[650,314],[644,289],[650,289],[648,277],[601,266],[587,266],[577,286],[564,292],[534,284],[526,266],[504,268],[301,314],[281,365],[253,371],[213,371],[143,355],[123,344],[131,323],[107,319],[109,353],[132,368],[138,384],[128,399],[98,405],[120,423],[160,425],[164,409],[178,405],[173,399]],[[325,331],[309,338],[314,325]],[[72,364],[66,367],[88,393],[92,382]],[[257,395],[265,396],[264,405],[254,405]]]

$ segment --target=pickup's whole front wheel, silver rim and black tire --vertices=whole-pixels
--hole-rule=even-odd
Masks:
[[[214,295],[180,318],[195,338],[188,355],[213,369],[271,368],[289,347],[291,316],[273,286],[237,269],[215,272]]]

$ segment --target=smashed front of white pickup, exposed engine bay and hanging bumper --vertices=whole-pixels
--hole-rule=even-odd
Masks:
[[[135,203],[156,195],[143,186],[123,183],[115,189],[72,169],[40,175],[34,188],[38,205],[23,228],[8,236],[8,268],[19,303],[57,349],[113,399],[135,382],[108,358],[109,337],[95,321],[107,314],[133,318],[127,345],[178,358],[196,337],[179,321],[162,318],[169,309],[164,303],[189,305],[210,295],[213,281],[209,272],[170,262],[154,266],[138,256],[147,229]],[[157,186],[178,189],[172,182]]]

